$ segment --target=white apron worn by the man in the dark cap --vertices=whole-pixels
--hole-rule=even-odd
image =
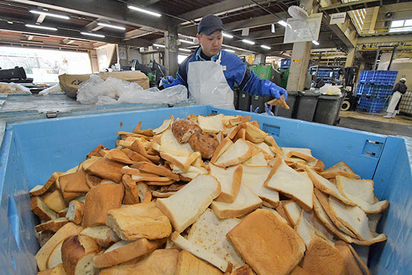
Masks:
[[[213,105],[225,109],[235,109],[233,90],[227,84],[220,65],[220,56],[214,61],[194,61],[189,63],[187,85],[190,96],[197,104]]]

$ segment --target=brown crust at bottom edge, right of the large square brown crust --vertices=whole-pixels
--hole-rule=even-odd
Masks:
[[[309,274],[349,275],[341,252],[319,237],[310,242],[302,268]]]

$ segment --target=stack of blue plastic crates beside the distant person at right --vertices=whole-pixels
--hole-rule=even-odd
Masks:
[[[364,71],[359,77],[356,95],[360,96],[358,109],[369,113],[382,113],[389,104],[395,84],[396,71]]]

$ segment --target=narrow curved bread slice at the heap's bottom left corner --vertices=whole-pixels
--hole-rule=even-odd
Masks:
[[[38,266],[38,270],[42,271],[46,269],[47,259],[49,258],[50,253],[52,250],[63,241],[68,236],[75,235],[80,233],[83,230],[81,225],[76,225],[75,223],[67,223],[64,225],[58,232],[56,232],[52,238],[43,245],[43,247],[38,250],[36,254],[36,263]]]

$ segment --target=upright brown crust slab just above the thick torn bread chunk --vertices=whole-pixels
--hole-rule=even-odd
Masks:
[[[84,227],[106,224],[107,211],[119,208],[123,197],[123,184],[99,184],[91,188],[84,203]]]

